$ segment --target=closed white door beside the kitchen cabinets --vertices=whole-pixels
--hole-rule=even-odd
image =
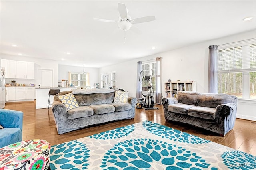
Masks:
[[[38,68],[36,71],[36,87],[53,87],[54,69]]]

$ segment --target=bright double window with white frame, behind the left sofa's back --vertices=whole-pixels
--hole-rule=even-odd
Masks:
[[[87,86],[89,85],[89,73],[70,73],[71,83],[73,86]]]

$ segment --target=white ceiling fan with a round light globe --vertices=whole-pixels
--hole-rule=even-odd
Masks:
[[[105,19],[99,19],[99,18],[94,18],[96,21],[102,21],[102,22],[118,22],[118,27],[123,30],[123,31],[128,31],[131,27],[132,24],[138,24],[142,22],[150,22],[156,20],[155,16],[144,16],[140,18],[135,18],[132,20],[131,16],[129,16],[128,9],[126,9],[125,4],[118,3],[118,11],[119,11],[119,20],[105,20]]]

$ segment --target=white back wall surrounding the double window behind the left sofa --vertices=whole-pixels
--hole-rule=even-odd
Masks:
[[[99,69],[90,67],[74,67],[69,65],[58,65],[58,82],[68,80],[68,72],[80,73],[81,71],[89,73],[90,86],[94,88],[94,83],[99,83]]]

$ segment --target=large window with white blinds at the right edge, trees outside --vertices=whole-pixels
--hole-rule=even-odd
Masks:
[[[218,92],[256,99],[256,43],[243,42],[218,50]]]

